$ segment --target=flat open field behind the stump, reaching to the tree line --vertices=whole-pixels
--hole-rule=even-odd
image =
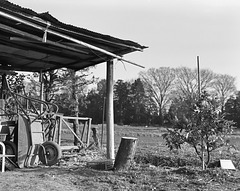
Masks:
[[[106,146],[106,126],[103,126],[103,137],[102,125],[92,125],[92,127],[98,128],[98,137],[103,146]],[[115,149],[118,148],[122,137],[135,137],[138,138],[137,152],[139,150],[146,152],[156,152],[160,150],[167,150],[165,142],[162,138],[162,134],[166,132],[164,127],[146,127],[146,126],[114,126],[114,139],[115,139]],[[233,135],[228,136],[230,144],[234,145],[237,150],[240,150],[240,130],[236,130]],[[67,128],[64,128],[64,133],[62,135],[63,144],[70,144],[73,140],[73,135]],[[90,142],[92,142],[92,132],[90,136]]]

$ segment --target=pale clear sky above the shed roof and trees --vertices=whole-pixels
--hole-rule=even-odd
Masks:
[[[237,78],[240,90],[240,0],[10,0],[94,32],[148,46],[115,63],[115,80],[151,67],[200,67]],[[93,70],[105,78],[105,64]]]

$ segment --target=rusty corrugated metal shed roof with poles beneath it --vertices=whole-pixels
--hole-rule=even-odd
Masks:
[[[0,69],[79,70],[144,48],[0,0]]]

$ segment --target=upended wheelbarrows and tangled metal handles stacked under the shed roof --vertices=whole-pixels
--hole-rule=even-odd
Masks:
[[[62,153],[53,141],[58,107],[13,92],[6,74],[2,75],[0,98],[0,141],[5,145],[0,157],[7,157],[11,164],[20,168],[39,161],[49,166],[56,164]]]

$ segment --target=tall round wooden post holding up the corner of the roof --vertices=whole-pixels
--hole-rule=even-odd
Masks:
[[[114,159],[114,114],[113,114],[113,60],[107,62],[107,158]]]

